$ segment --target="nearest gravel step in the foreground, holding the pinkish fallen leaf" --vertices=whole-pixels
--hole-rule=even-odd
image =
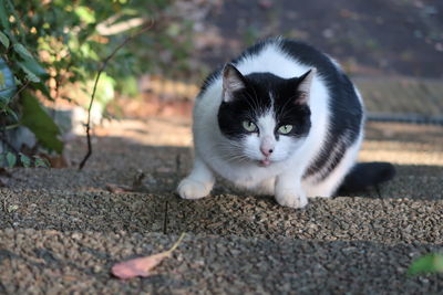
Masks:
[[[194,235],[148,278],[112,278],[113,263],[157,253],[176,235],[1,230],[9,294],[436,294],[443,276],[408,277],[432,245]]]

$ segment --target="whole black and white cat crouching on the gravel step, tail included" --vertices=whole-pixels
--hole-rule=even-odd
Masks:
[[[391,165],[354,164],[363,120],[361,96],[336,61],[301,42],[260,42],[204,83],[194,107],[194,168],[178,193],[203,198],[218,175],[302,208],[343,181],[388,180]]]

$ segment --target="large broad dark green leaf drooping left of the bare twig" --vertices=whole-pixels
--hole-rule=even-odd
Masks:
[[[58,138],[60,129],[47,112],[44,112],[39,101],[31,93],[23,92],[23,95],[21,95],[21,105],[23,110],[21,124],[35,135],[43,147],[61,154],[63,143]]]

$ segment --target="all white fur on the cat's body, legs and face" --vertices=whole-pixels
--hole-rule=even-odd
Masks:
[[[274,43],[269,43],[258,55],[241,60],[236,67],[243,75],[270,72],[284,78],[300,76],[311,69],[282,53]],[[258,119],[259,136],[251,134],[241,144],[227,139],[217,124],[222,99],[222,77],[196,99],[193,125],[196,159],[193,171],[178,186],[182,198],[205,197],[214,185],[214,175],[219,175],[240,188],[275,194],[282,206],[302,208],[308,202],[307,197],[330,197],[356,160],[362,136],[324,180],[320,183],[313,178],[302,181],[305,171],[327,138],[329,123],[329,94],[318,72],[310,87],[311,129],[306,138],[297,141],[286,136],[280,136],[278,141],[274,139],[276,122],[271,112]],[[260,151],[264,145],[274,149],[269,157],[272,164],[268,167],[258,165],[265,158]],[[239,151],[245,156],[238,156]]]

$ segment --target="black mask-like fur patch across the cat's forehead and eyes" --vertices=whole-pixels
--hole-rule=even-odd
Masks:
[[[281,78],[270,73],[254,73],[244,76],[246,87],[235,93],[235,99],[223,102],[218,110],[218,126],[222,133],[230,138],[238,139],[248,135],[241,123],[257,122],[257,118],[270,109],[274,97],[277,130],[282,125],[293,125],[292,130],[285,136],[306,136],[310,128],[310,109],[306,104],[297,104],[299,80]]]

